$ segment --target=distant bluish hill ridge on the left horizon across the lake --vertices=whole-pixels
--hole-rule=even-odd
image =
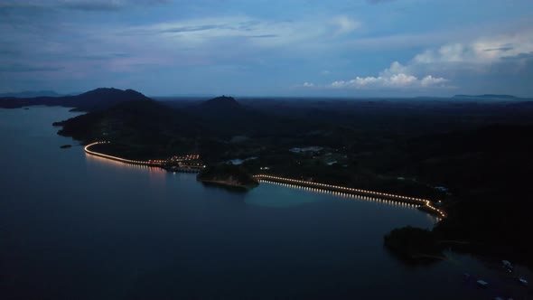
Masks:
[[[77,96],[35,97],[35,98],[0,98],[0,108],[22,108],[33,105],[61,106],[83,111],[95,111],[109,108],[117,103],[130,100],[150,100],[133,89],[93,89]]]

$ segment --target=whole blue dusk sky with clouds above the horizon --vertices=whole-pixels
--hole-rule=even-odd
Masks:
[[[531,0],[0,0],[0,92],[533,97]]]

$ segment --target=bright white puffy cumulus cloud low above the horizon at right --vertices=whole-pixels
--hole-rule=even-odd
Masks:
[[[330,85],[335,89],[410,89],[410,88],[444,88],[448,80],[432,75],[419,79],[409,73],[406,66],[393,62],[390,67],[379,73],[379,76],[356,77],[353,80],[333,81]]]

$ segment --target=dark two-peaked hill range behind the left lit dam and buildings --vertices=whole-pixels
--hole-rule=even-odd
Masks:
[[[108,140],[107,153],[129,158],[165,158],[200,153],[205,163],[218,163],[241,147],[230,141],[248,136],[248,148],[266,136],[291,136],[313,130],[315,122],[278,117],[220,97],[189,108],[172,108],[154,100],[126,101],[110,108],[56,122],[62,136],[89,143]],[[109,150],[109,149],[108,149]],[[114,152],[113,152],[114,151]]]

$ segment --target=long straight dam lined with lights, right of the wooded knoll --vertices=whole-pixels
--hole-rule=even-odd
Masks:
[[[375,195],[375,196],[380,196],[380,197],[388,197],[388,198],[392,198],[400,202],[420,202],[426,208],[428,208],[431,211],[435,211],[435,213],[437,213],[441,217],[444,218],[446,216],[444,211],[435,208],[435,206],[433,206],[431,202],[426,199],[395,195],[395,194],[391,194],[387,192],[373,192],[373,191],[367,191],[367,190],[360,190],[360,189],[354,189],[354,188],[349,188],[349,187],[340,186],[340,185],[332,185],[332,184],[326,184],[326,183],[314,183],[314,182],[308,182],[304,180],[285,178],[285,177],[266,175],[266,174],[257,174],[254,177],[256,177],[257,179],[270,179],[270,180],[281,181],[285,183],[312,185],[312,186],[322,188],[322,189],[341,190],[343,192],[364,193],[364,194],[370,194],[370,195]]]

